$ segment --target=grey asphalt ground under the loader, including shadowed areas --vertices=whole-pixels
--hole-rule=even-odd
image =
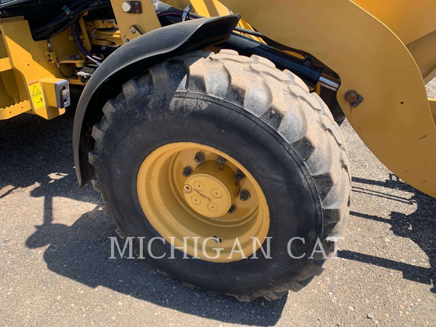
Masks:
[[[436,98],[435,81],[427,90]],[[340,258],[299,293],[239,303],[145,260],[107,259],[115,225],[91,185],[78,191],[73,118],[0,122],[1,325],[436,325],[436,199],[392,175],[347,121],[353,194]]]

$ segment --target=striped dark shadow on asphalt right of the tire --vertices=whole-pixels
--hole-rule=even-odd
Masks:
[[[412,195],[410,198],[399,197],[389,194],[388,190],[386,192],[371,190],[370,187],[368,188],[370,185],[406,191]],[[436,208],[436,199],[416,190],[409,184],[400,181],[398,177],[392,174],[385,182],[353,177],[353,191],[408,204],[416,203],[417,209],[412,214],[405,215],[401,212],[392,211],[390,219],[355,211],[351,211],[350,214],[390,224],[391,230],[395,235],[408,237],[419,245],[429,258],[430,268],[413,266],[404,262],[348,250],[338,251],[338,256],[344,259],[356,260],[401,271],[403,273],[403,278],[405,279],[433,285],[431,292],[436,293],[436,219],[434,212],[434,209]]]

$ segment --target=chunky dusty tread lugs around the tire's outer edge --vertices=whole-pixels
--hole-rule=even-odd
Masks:
[[[113,114],[137,95],[171,91],[218,97],[243,107],[275,129],[298,153],[313,177],[324,218],[322,241],[332,248],[327,237],[343,235],[351,194],[350,164],[339,126],[321,98],[310,93],[299,77],[287,70],[279,71],[266,58],[257,55],[248,58],[233,50],[221,50],[216,54],[195,51],[154,65],[148,69],[148,74],[126,82],[123,92],[106,103],[102,122],[92,130],[95,149],[89,153],[89,161],[96,173],[92,185],[101,192],[106,211],[110,208],[98,180],[98,153],[104,151],[102,138]],[[122,226],[117,229],[123,230]],[[257,292],[247,290],[226,295],[243,302],[259,296],[275,300],[287,290],[296,292],[302,289],[313,276],[320,275],[325,263],[323,260],[313,262],[305,275],[272,289],[265,287]]]

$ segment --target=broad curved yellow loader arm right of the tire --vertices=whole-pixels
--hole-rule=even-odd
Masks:
[[[412,55],[385,24],[350,0],[221,2],[261,33],[337,72],[338,102],[364,143],[404,181],[436,197],[436,128],[426,88]],[[412,38],[436,30],[433,24]],[[364,96],[357,108],[345,102],[349,90]]]

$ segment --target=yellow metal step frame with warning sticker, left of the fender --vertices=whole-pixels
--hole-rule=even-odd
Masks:
[[[64,113],[65,109],[46,106],[43,90],[39,98],[35,94],[32,97],[28,85],[31,82],[39,83],[44,77],[61,75],[57,66],[48,61],[47,41],[34,41],[29,25],[23,17],[0,19],[0,30],[2,37],[0,51],[10,62],[10,68],[6,60],[1,64],[2,68],[9,69],[4,71],[0,69],[3,81],[0,83],[0,97],[2,103],[5,103],[3,99],[8,99],[5,103],[7,106],[2,110],[3,114],[0,117],[6,119],[31,110],[45,119],[52,119]],[[77,53],[75,45],[68,41],[68,31],[55,35],[50,41],[53,50],[60,56]],[[70,72],[66,71],[66,73]]]

